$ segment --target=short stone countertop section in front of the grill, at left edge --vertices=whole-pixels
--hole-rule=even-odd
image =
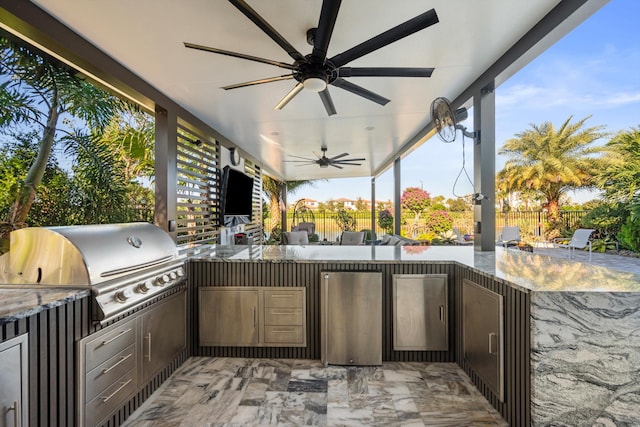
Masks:
[[[90,295],[91,290],[70,287],[0,285],[0,324],[32,316]]]

